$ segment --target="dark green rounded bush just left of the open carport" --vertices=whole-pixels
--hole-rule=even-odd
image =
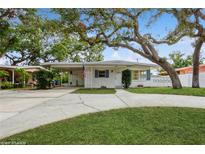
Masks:
[[[51,88],[51,81],[53,80],[53,73],[51,71],[40,70],[34,73],[37,80],[38,89]]]

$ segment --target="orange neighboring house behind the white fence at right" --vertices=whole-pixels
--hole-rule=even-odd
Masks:
[[[193,67],[188,66],[188,67],[177,68],[176,71],[179,75],[181,75],[181,74],[191,74],[193,72]],[[205,64],[201,64],[199,66],[199,73],[205,73]]]

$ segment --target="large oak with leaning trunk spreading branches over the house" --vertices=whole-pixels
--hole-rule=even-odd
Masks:
[[[77,32],[90,45],[103,43],[112,48],[126,48],[160,65],[170,76],[173,88],[181,82],[171,64],[154,47],[150,34],[142,34],[140,16],[146,9],[63,9],[57,10],[63,28]]]

